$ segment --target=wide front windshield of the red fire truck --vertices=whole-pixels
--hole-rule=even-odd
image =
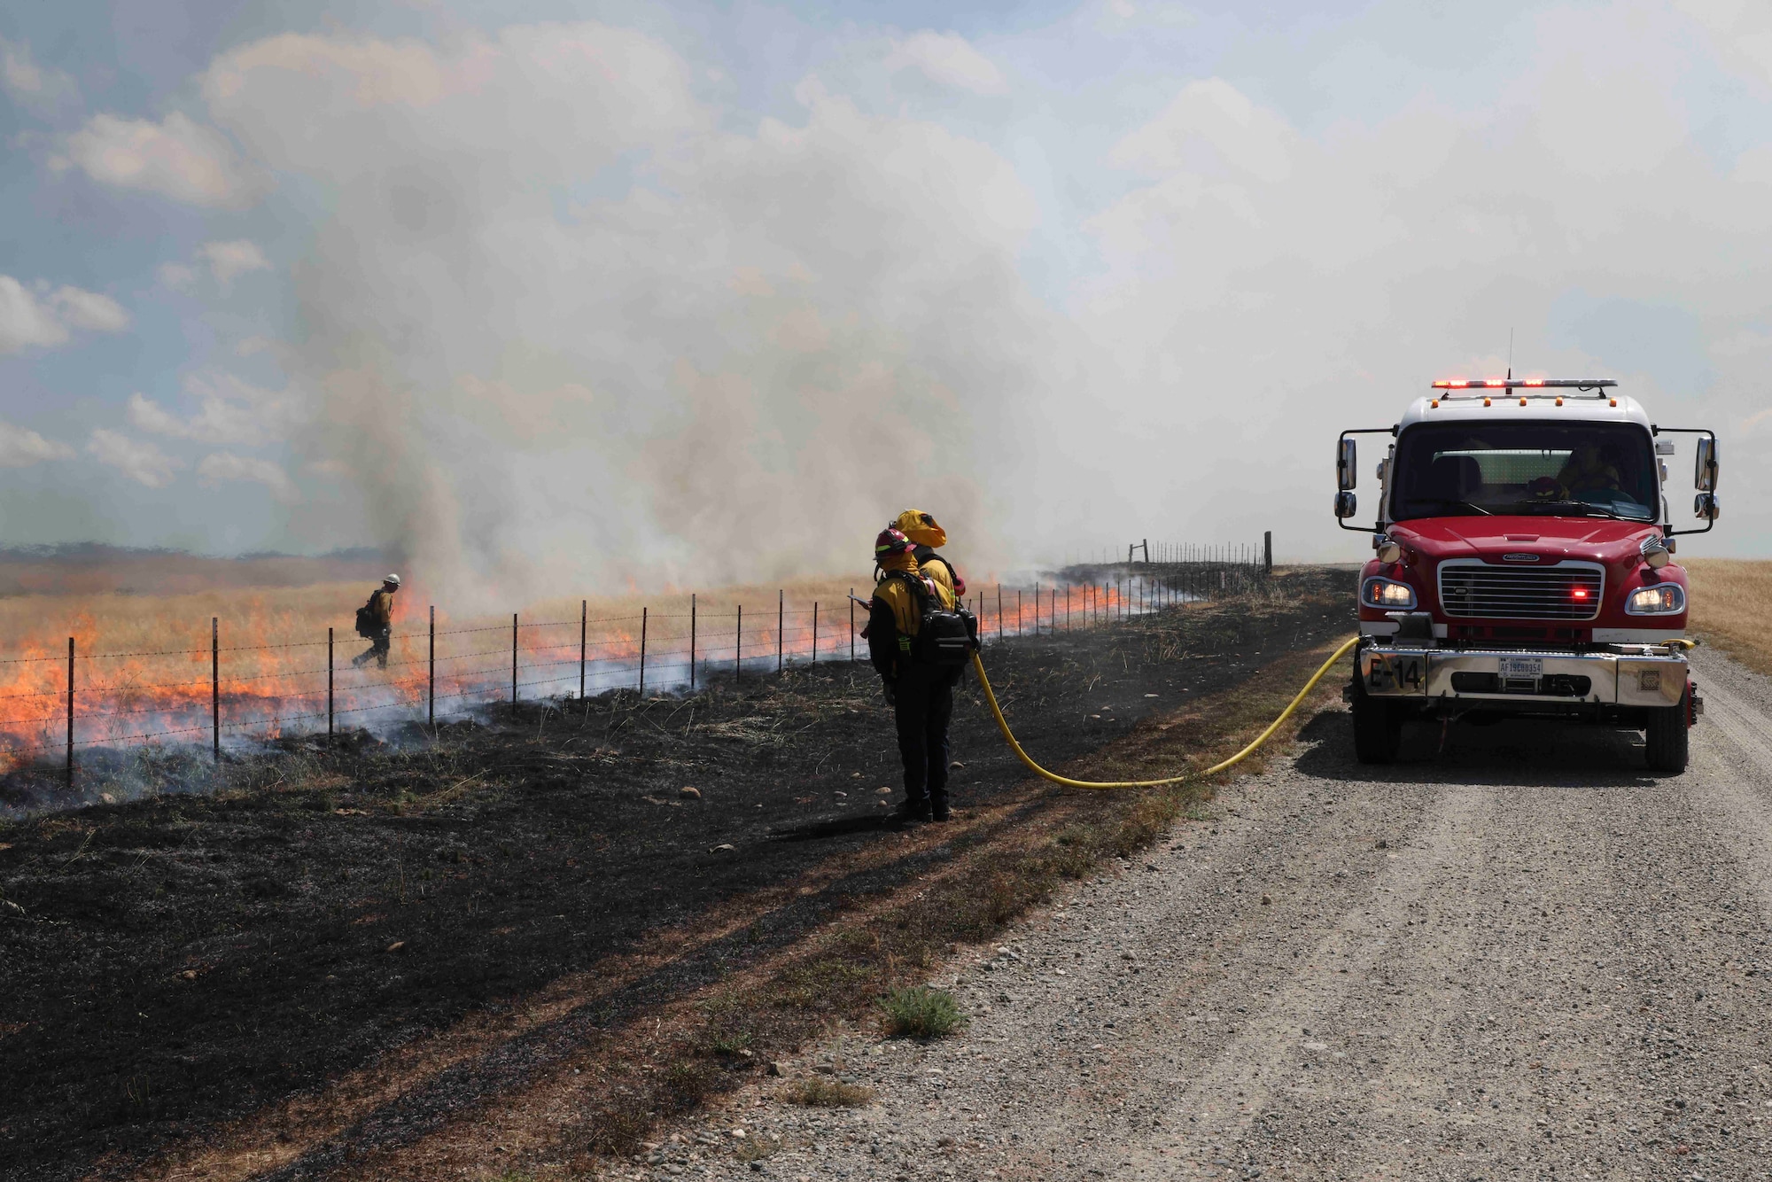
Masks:
[[[1628,424],[1423,424],[1396,441],[1391,519],[1563,514],[1653,521],[1650,436]]]

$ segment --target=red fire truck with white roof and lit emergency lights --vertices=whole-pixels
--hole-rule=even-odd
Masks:
[[[1341,432],[1334,516],[1361,533],[1354,436],[1391,436],[1347,689],[1361,762],[1396,758],[1409,719],[1536,716],[1643,730],[1652,769],[1685,769],[1703,702],[1673,553],[1717,519],[1717,436],[1652,424],[1614,386],[1437,381],[1396,425]],[[1678,436],[1696,436],[1692,530],[1662,491]]]

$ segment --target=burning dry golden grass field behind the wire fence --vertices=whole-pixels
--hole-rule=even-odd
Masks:
[[[4,564],[0,564],[4,565]],[[165,574],[165,572],[161,572]],[[193,739],[209,723],[211,620],[220,636],[222,723],[227,734],[276,734],[326,727],[328,665],[340,727],[390,718],[388,707],[424,707],[431,693],[429,595],[422,581],[395,597],[393,649],[386,670],[354,668],[369,645],[356,636],[354,613],[376,587],[326,581],[307,587],[214,587],[144,595],[119,590],[119,578],[85,571],[62,594],[0,597],[0,748],[18,753],[58,748],[66,741],[67,638],[74,638],[76,741],[110,743],[142,735]],[[780,587],[721,587],[709,592],[549,597],[512,604],[517,613],[517,693],[558,696],[579,689],[583,627],[585,691],[664,689],[689,680],[691,626],[696,680],[735,668],[739,611],[746,672],[783,657],[865,659],[854,633],[867,610],[851,590],[872,592],[865,578],[806,578]],[[996,588],[985,622],[996,631]],[[691,603],[695,618],[691,622]],[[1003,595],[1015,634],[1017,597]],[[1021,597],[1024,627],[1051,622],[1051,599]],[[1081,595],[1077,599],[1081,624]],[[583,624],[581,624],[583,617]],[[333,629],[328,661],[326,629]],[[509,613],[436,613],[438,716],[507,698],[512,691],[512,618]],[[195,741],[195,739],[193,739]]]

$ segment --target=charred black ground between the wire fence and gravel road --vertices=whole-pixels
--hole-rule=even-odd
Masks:
[[[1012,638],[987,663],[1021,737],[1061,764],[1345,631],[1340,581],[1306,571],[1212,608]],[[959,698],[964,808],[1024,774],[976,688]],[[218,796],[0,829],[0,888],[23,909],[0,920],[7,1177],[122,1173],[861,851],[882,833],[875,789],[898,782],[877,680],[849,665],[695,696],[519,705],[425,744],[287,746],[229,767],[234,789]],[[700,799],[679,797],[686,785]],[[920,868],[890,861],[843,891],[891,890]],[[778,909],[764,930],[618,992],[595,1021],[698,989],[835,906],[826,891]],[[510,1086],[558,1053],[517,1047],[452,1095]]]

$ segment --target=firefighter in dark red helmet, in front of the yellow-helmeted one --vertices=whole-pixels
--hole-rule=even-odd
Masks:
[[[898,758],[904,762],[904,805],[898,819],[907,824],[946,820],[948,810],[948,723],[953,719],[953,684],[959,666],[920,663],[913,640],[927,603],[955,608],[944,579],[918,569],[916,548],[900,530],[888,526],[874,539],[874,562],[881,578],[868,611],[868,657],[886,684],[898,725]]]

